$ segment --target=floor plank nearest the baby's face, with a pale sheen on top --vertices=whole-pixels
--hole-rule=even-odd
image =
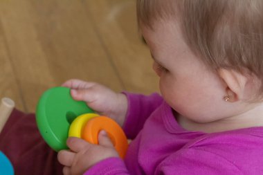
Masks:
[[[158,91],[158,77],[152,71],[149,50],[143,44],[136,24],[136,1],[85,0],[107,52],[127,91]]]

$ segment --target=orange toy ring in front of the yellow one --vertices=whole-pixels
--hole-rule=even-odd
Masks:
[[[98,133],[101,130],[107,131],[109,138],[121,158],[124,158],[128,142],[123,129],[111,118],[99,116],[91,118],[84,127],[82,138],[93,144],[98,144]]]

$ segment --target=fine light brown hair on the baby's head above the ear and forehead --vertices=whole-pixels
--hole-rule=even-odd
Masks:
[[[249,72],[263,82],[262,0],[138,0],[137,17],[149,28],[158,20],[177,22],[185,42],[212,70]],[[262,94],[263,86],[258,88]]]

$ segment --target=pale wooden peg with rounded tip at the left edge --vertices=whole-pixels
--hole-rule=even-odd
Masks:
[[[0,104],[0,133],[6,124],[12,110],[15,108],[15,102],[10,98],[2,98]]]

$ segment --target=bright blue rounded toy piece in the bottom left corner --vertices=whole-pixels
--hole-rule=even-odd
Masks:
[[[14,175],[14,169],[10,160],[0,151],[0,174],[1,175]]]

